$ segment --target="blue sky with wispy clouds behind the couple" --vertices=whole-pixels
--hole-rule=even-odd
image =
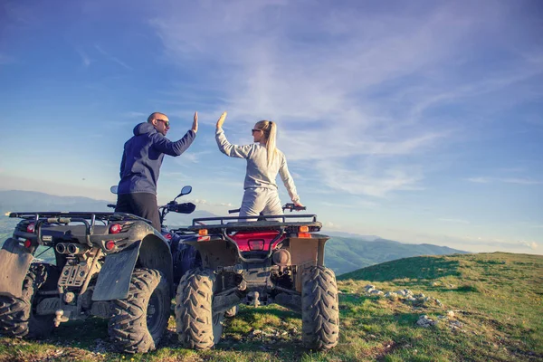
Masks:
[[[0,188],[112,199],[152,111],[181,138],[184,185],[225,214],[255,121],[324,231],[472,252],[543,250],[543,5],[532,1],[5,1]],[[281,183],[281,200],[288,201]]]

